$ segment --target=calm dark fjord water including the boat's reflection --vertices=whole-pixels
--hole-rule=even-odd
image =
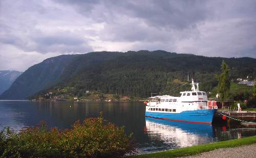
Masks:
[[[174,149],[256,135],[256,128],[238,125],[192,124],[145,118],[142,102],[31,102],[0,101],[0,130],[10,126],[20,130],[41,120],[50,127],[71,128],[76,120],[97,117],[133,133],[138,153]]]

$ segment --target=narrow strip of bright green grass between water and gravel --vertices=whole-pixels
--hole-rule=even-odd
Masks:
[[[181,157],[181,156],[195,155],[198,153],[215,150],[219,148],[236,147],[236,146],[248,145],[253,143],[256,143],[256,136],[203,144],[203,145],[195,145],[195,146],[190,146],[185,148],[160,151],[160,152],[149,153],[149,154],[133,155],[131,157]]]

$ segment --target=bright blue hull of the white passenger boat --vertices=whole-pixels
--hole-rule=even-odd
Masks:
[[[217,110],[194,110],[183,111],[181,113],[146,112],[145,116],[170,121],[211,124],[216,111]]]

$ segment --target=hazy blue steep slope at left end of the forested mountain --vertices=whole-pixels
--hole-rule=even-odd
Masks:
[[[0,99],[25,99],[40,90],[48,89],[57,83],[65,66],[76,55],[61,55],[31,66],[20,75],[11,87],[0,95]]]

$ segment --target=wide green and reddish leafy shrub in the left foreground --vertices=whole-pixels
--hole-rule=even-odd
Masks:
[[[76,121],[72,129],[48,128],[45,122],[16,133],[0,133],[1,157],[99,157],[122,156],[134,151],[132,135],[123,127],[98,118]]]

